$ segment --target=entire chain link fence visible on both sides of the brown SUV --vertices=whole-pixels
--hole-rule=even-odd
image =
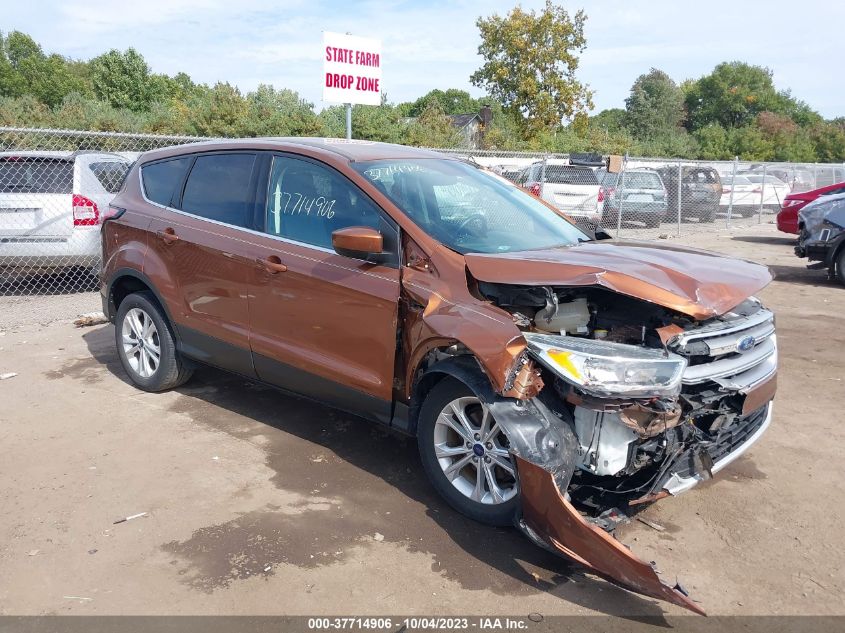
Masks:
[[[103,214],[132,162],[202,140],[0,127],[0,296],[96,289]],[[845,181],[843,165],[625,158],[608,169],[598,155],[440,151],[619,238],[771,222],[789,193]]]

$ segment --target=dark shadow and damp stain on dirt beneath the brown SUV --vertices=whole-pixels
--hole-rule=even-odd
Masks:
[[[95,361],[128,382],[111,326],[89,330],[83,339],[93,361],[76,361],[85,368],[66,368],[62,375],[84,378]],[[378,547],[378,533],[384,542],[426,554],[433,573],[467,590],[511,596],[544,591],[607,614],[662,619],[659,603],[585,576],[580,566],[536,547],[516,529],[483,526],[449,508],[426,481],[410,438],[208,367],[178,392],[174,412],[260,445],[273,483],[313,501],[299,513],[269,506],[164,544],[182,581],[194,589],[212,592],[267,575],[275,564],[330,565],[353,548]]]

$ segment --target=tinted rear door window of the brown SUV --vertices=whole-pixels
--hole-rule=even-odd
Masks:
[[[255,154],[200,156],[185,184],[182,210],[209,220],[247,226],[254,164]]]

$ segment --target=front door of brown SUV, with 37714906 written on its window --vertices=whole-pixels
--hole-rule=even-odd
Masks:
[[[391,416],[399,300],[398,228],[338,171],[276,154],[264,179],[263,264],[254,269],[251,345],[258,376],[333,406]],[[377,228],[378,261],[343,257],[334,230]]]

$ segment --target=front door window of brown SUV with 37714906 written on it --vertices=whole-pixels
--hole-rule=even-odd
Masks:
[[[329,167],[276,156],[267,191],[266,231],[297,242],[332,247],[332,232],[379,227],[379,210]]]

